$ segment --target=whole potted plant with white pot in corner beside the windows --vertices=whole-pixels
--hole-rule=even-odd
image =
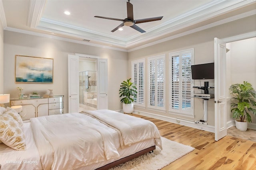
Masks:
[[[131,78],[120,85],[119,94],[123,104],[124,113],[132,113],[134,98],[137,96],[137,87],[131,82]]]

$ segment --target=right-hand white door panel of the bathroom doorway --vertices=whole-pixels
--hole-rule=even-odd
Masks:
[[[108,109],[108,59],[98,59],[97,109]]]

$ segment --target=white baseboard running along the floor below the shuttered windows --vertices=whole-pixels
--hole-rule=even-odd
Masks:
[[[155,119],[160,119],[160,120],[163,120],[163,121],[168,121],[168,122],[171,122],[171,123],[176,123],[178,125],[193,127],[195,129],[200,129],[200,130],[204,130],[204,131],[208,131],[208,132],[212,132],[212,133],[215,132],[214,126],[196,124],[194,121],[191,121],[191,120],[188,120],[188,119],[182,119],[182,118],[179,118],[179,117],[177,117],[177,118],[168,117],[168,116],[157,115],[157,114],[154,114],[154,113],[145,112],[145,111],[138,111],[138,110],[134,110],[133,113],[137,114],[137,115],[143,115],[143,116],[152,117],[152,118],[155,118]]]

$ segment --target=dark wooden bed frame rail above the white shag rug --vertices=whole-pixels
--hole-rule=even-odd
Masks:
[[[138,156],[141,156],[147,152],[151,152],[152,150],[155,150],[155,149],[156,149],[156,146],[152,146],[152,147],[146,148],[144,150],[140,150],[139,152],[136,152],[135,154],[131,154],[129,156],[126,156],[124,158],[121,158],[119,160],[111,162],[109,164],[106,164],[100,168],[97,168],[96,170],[107,170],[109,168],[113,168],[114,166],[117,166],[117,165],[127,162],[129,160],[132,160],[133,158],[137,158]]]

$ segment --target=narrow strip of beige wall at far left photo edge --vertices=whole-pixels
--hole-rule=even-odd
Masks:
[[[0,21],[0,94],[4,93],[4,29]]]

